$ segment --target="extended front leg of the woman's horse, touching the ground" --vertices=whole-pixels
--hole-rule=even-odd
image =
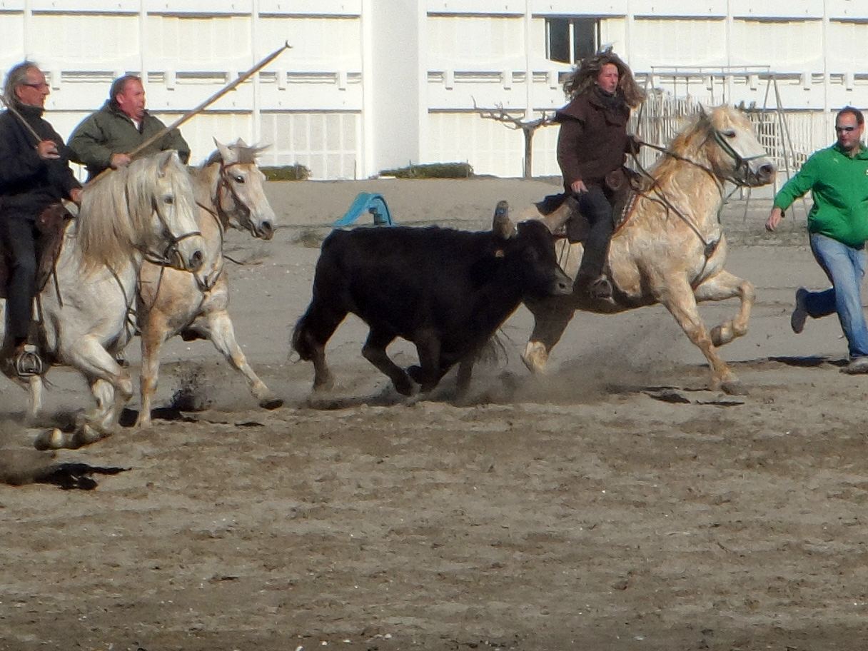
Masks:
[[[709,388],[712,391],[744,395],[746,391],[739,379],[735,377],[735,374],[714,348],[711,334],[700,318],[694,290],[687,283],[687,280],[678,279],[674,282],[670,280],[659,295],[661,304],[672,314],[678,325],[681,325],[681,330],[687,334],[687,338],[700,349],[708,360],[708,365],[711,368]]]

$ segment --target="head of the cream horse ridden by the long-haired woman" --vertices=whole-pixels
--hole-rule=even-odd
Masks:
[[[702,134],[702,149],[720,179],[748,187],[772,182],[777,168],[739,109],[700,107],[695,133]]]

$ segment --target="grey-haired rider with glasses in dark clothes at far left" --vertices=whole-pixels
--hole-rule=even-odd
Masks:
[[[50,92],[36,63],[21,62],[6,76],[7,109],[0,114],[0,244],[8,263],[3,352],[21,377],[44,372],[30,339],[38,291],[36,220],[52,204],[80,201],[82,192],[69,168],[69,148],[43,118]]]

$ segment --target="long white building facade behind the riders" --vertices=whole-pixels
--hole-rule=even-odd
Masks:
[[[609,45],[649,89],[794,111],[808,151],[836,109],[868,107],[865,0],[0,0],[0,34],[4,70],[46,71],[62,135],[116,76],[141,75],[172,122],[288,42],[182,131],[193,162],[242,137],[315,179],[448,161],[519,176],[521,132],[474,105],[556,109],[572,63]],[[558,174],[556,135],[536,133],[535,175]]]

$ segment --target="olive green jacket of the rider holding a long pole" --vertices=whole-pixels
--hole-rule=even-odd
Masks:
[[[145,111],[140,131],[121,109],[117,109],[112,102],[106,102],[102,109],[85,118],[69,136],[69,148],[75,154],[72,160],[88,168],[90,181],[109,168],[113,154],[128,154],[165,127],[159,119]],[[141,155],[156,154],[167,149],[177,149],[181,162],[185,164],[190,159],[190,146],[176,128],[149,145]]]

